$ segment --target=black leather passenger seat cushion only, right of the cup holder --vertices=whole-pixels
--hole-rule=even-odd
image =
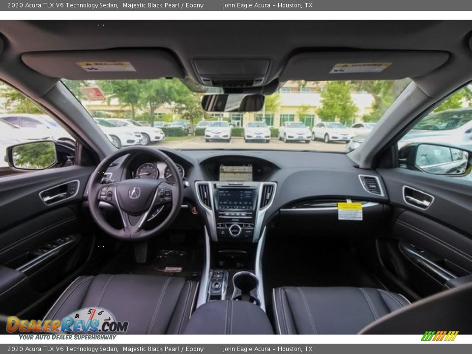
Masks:
[[[356,334],[410,304],[400,294],[350,287],[282,287],[272,300],[279,334]]]

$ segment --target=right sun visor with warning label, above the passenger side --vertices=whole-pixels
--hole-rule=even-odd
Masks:
[[[397,80],[425,75],[447,52],[368,51],[300,53],[289,59],[280,81]]]

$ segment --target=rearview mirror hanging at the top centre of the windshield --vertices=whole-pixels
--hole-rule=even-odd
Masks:
[[[202,97],[207,112],[256,112],[262,110],[265,96],[260,94],[210,94]]]

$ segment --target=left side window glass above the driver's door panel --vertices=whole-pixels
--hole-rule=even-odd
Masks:
[[[57,155],[53,143],[39,142],[43,140],[61,141],[66,148]],[[0,177],[34,171],[12,169],[8,164],[7,149],[26,143],[29,145],[12,150],[14,161],[22,163],[17,167],[40,169],[49,167],[55,159],[51,168],[74,163],[75,143],[70,134],[29,98],[0,83]]]

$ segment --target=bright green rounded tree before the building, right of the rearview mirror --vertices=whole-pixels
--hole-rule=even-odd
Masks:
[[[318,116],[325,121],[339,121],[343,124],[354,120],[357,107],[351,97],[351,82],[330,81],[321,92],[322,107],[318,108]]]

